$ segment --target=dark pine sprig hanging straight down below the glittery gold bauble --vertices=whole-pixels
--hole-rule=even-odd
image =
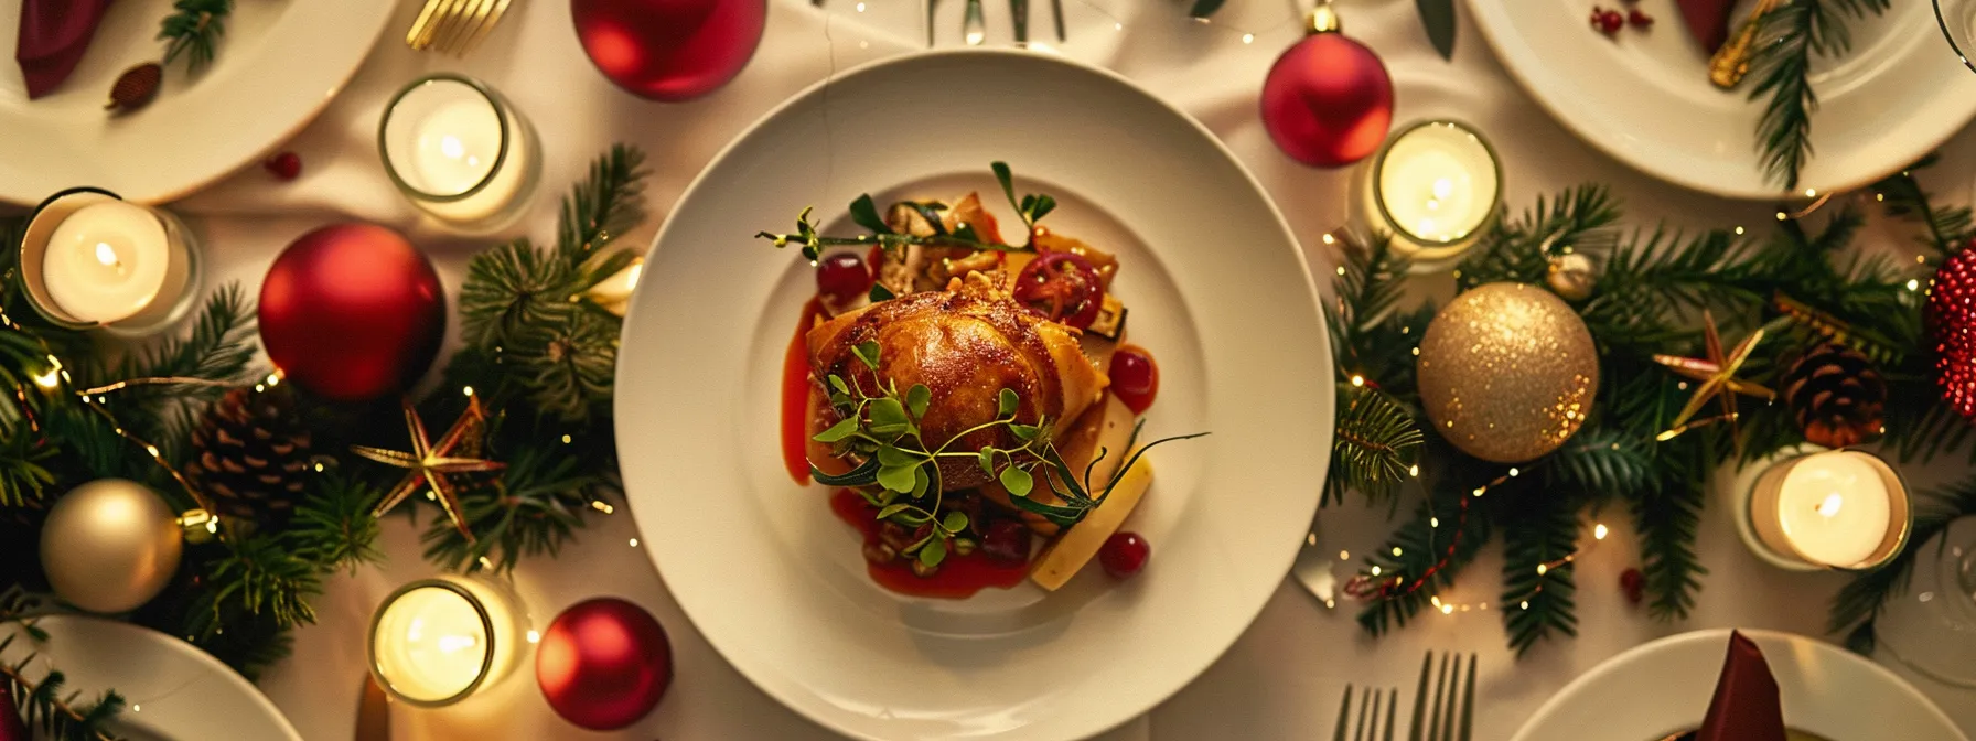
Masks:
[[[1571,557],[1577,553],[1577,498],[1559,492],[1518,490],[1502,528],[1502,622],[1518,656],[1537,640],[1561,632],[1579,634],[1577,583]]]

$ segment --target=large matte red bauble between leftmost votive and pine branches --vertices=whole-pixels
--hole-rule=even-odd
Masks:
[[[411,241],[373,223],[296,239],[261,283],[261,344],[288,381],[336,401],[401,391],[447,330],[439,273]]]

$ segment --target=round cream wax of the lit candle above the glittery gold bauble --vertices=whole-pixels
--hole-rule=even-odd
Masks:
[[[1419,241],[1468,237],[1496,207],[1496,156],[1482,138],[1452,123],[1401,132],[1377,160],[1375,198],[1387,227]]]

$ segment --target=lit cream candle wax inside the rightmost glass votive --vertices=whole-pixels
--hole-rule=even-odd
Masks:
[[[1828,451],[1790,466],[1772,516],[1798,555],[1853,567],[1879,551],[1893,526],[1895,492],[1875,462],[1865,453]]]

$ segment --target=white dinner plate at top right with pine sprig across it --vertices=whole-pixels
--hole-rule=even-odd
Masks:
[[[1674,0],[1640,0],[1648,32],[1608,40],[1587,24],[1593,0],[1468,0],[1470,16],[1551,117],[1650,176],[1731,198],[1776,198],[1757,154],[1757,79],[1707,81],[1707,53]],[[1620,6],[1603,2],[1603,6]],[[1913,164],[1976,113],[1976,73],[1942,41],[1927,0],[1895,2],[1852,26],[1853,49],[1814,63],[1814,156],[1798,190],[1852,190]]]

